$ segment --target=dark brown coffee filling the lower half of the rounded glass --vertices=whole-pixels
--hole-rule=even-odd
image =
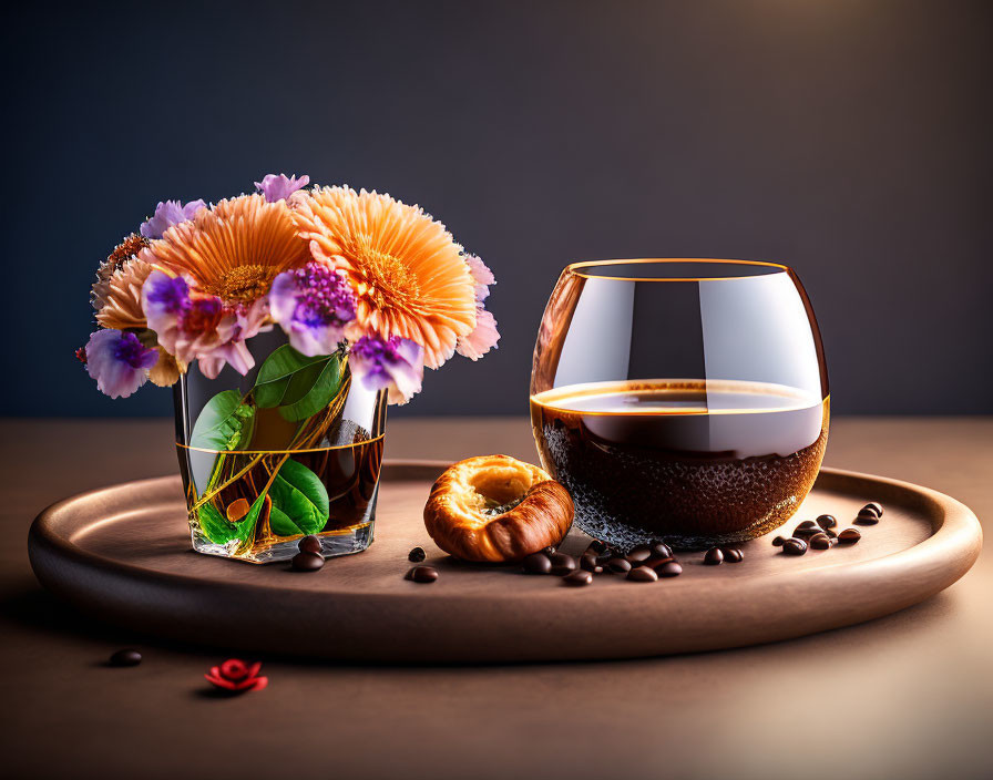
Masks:
[[[750,382],[582,384],[531,399],[542,463],[571,493],[576,525],[621,547],[705,547],[781,525],[813,485],[828,417],[828,399]]]

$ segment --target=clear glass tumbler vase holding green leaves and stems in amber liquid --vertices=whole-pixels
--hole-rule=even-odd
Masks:
[[[255,368],[174,387],[176,450],[193,548],[248,563],[372,542],[387,398],[354,382],[344,352],[306,358],[281,333],[247,342]]]

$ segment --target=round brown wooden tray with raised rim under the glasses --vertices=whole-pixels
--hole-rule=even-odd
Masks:
[[[838,628],[902,609],[961,577],[982,532],[958,501],[905,482],[822,470],[786,526],[830,513],[841,527],[868,501],[882,521],[853,546],[778,554],[770,537],[741,545],[739,564],[638,584],[602,575],[583,588],[518,566],[454,561],[428,537],[421,512],[446,464],[387,462],[376,543],[318,573],[198,555],[190,547],[177,476],[66,499],[31,526],[41,583],[98,618],[194,643],[376,661],[508,661],[712,650]],[[774,534],[775,535],[775,534]],[[588,538],[570,533],[563,551]],[[414,545],[441,577],[403,578]]]

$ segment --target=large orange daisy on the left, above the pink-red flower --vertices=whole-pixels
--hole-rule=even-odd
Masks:
[[[285,201],[240,195],[173,225],[141,258],[188,274],[197,289],[226,304],[252,304],[276,276],[305,265],[310,253]]]

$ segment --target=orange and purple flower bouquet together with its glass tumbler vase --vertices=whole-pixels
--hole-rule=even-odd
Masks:
[[[365,550],[388,403],[499,339],[490,269],[389,195],[269,174],[217,204],[160,203],[96,274],[98,388],[173,386],[194,550]]]

